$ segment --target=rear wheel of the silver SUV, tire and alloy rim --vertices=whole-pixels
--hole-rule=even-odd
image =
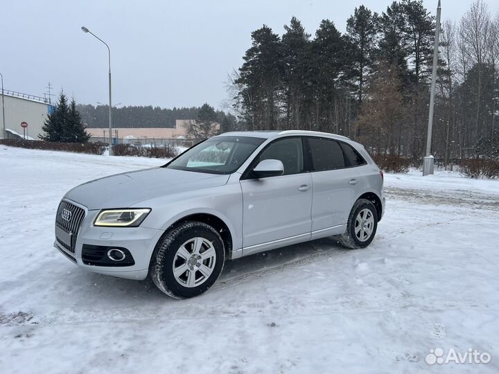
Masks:
[[[378,213],[373,203],[367,199],[358,199],[350,212],[347,231],[338,235],[343,247],[349,249],[365,248],[374,239],[378,229]]]

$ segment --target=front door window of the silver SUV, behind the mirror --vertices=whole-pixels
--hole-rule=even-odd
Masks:
[[[283,163],[284,174],[298,174],[304,171],[304,156],[301,138],[289,138],[275,141],[265,149],[259,162],[274,159]]]

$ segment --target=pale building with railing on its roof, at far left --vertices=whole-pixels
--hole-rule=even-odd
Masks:
[[[1,91],[0,91],[1,99]],[[22,122],[28,123],[26,127],[26,139],[40,140],[38,135],[42,134],[42,126],[47,115],[54,109],[49,104],[49,100],[38,96],[21,94],[14,91],[3,91],[3,100],[5,102],[5,128],[3,129],[0,102],[0,136],[7,139],[23,136]]]

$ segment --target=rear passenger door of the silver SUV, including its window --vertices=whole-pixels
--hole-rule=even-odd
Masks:
[[[353,203],[361,194],[358,168],[351,166],[345,155],[345,143],[319,137],[308,137],[306,141],[313,181],[313,236],[342,233]]]

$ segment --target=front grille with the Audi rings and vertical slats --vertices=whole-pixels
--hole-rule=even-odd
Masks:
[[[78,230],[84,218],[85,210],[65,200],[60,202],[57,215],[55,215],[55,224],[64,233],[62,233],[63,235],[57,235],[58,230],[56,229],[55,238],[64,249],[71,253],[75,253]]]

